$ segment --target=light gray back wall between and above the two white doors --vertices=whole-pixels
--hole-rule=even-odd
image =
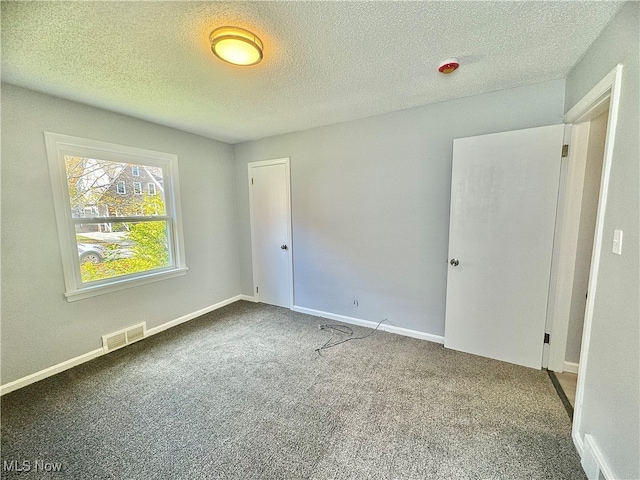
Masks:
[[[246,165],[290,157],[295,304],[443,335],[453,139],[560,123],[563,99],[559,80],[235,145],[243,293]]]

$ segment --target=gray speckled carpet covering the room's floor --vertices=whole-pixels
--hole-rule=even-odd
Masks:
[[[237,302],[7,394],[31,471],[2,478],[585,478],[545,372],[380,331],[318,354],[321,323]]]

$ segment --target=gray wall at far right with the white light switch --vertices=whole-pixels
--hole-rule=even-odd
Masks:
[[[593,435],[614,478],[640,478],[639,10],[626,4],[573,68],[565,103],[568,110],[624,64],[579,432]],[[611,253],[614,229],[624,231],[621,256]]]

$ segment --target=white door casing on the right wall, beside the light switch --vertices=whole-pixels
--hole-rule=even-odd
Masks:
[[[596,216],[596,231],[593,241],[593,253],[591,270],[589,272],[589,296],[585,309],[584,327],[582,332],[582,346],[580,350],[580,365],[578,367],[578,385],[576,387],[576,400],[573,415],[572,437],[576,448],[582,455],[583,441],[582,406],[584,404],[584,378],[589,362],[589,347],[591,342],[591,329],[593,324],[594,301],[597,296],[598,272],[600,270],[600,257],[604,238],[604,217],[609,193],[611,166],[613,163],[613,150],[618,124],[618,111],[620,107],[620,91],[622,87],[622,64],[618,64],[607,76],[589,91],[576,105],[564,116],[567,123],[580,123],[588,121],[606,109],[608,100],[609,120],[604,147],[604,159],[602,166],[602,180],[600,182],[600,198]]]

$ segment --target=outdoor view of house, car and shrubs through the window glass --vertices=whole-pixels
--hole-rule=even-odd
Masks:
[[[161,167],[70,155],[64,165],[83,283],[172,264]]]

